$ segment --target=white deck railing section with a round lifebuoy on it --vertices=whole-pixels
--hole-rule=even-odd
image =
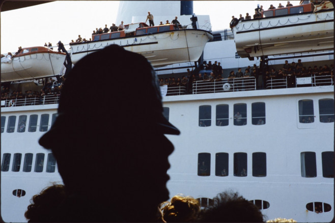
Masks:
[[[255,77],[222,78],[193,82],[193,94],[256,90]]]

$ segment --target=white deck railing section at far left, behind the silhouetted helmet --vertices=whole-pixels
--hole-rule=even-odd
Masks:
[[[24,97],[15,99],[1,100],[1,107],[16,107],[27,105],[41,105],[41,104],[57,104],[59,103],[60,95],[51,94],[42,97]]]

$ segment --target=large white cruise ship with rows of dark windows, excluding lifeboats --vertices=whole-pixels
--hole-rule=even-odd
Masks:
[[[142,22],[138,15],[146,14],[146,9],[133,4],[121,2],[119,13],[129,12],[133,15],[131,22]],[[183,2],[174,1],[161,4],[173,6],[179,13],[183,6]],[[302,4],[311,3],[303,1]],[[153,11],[154,5],[150,8]],[[333,26],[333,9],[297,10],[296,13],[297,7],[291,8],[284,7],[287,14],[281,15],[276,15],[276,10],[266,10],[259,19],[242,20],[231,29],[215,32],[211,30],[208,15],[197,15],[199,29],[211,32],[214,37],[205,45],[200,59],[196,63],[155,68],[158,78],[177,79],[188,75],[186,69],[197,76],[209,74],[211,70],[205,69],[209,61],[220,62],[224,67],[222,79],[161,86],[164,115],[181,131],[179,136],[167,135],[175,146],[169,157],[171,179],[167,182],[171,197],[182,193],[199,199],[201,206],[207,207],[217,193],[233,190],[255,203],[265,220],[282,217],[298,222],[329,222],[333,219],[332,75],[320,72],[300,77],[229,78],[230,71],[236,73],[237,68],[242,68],[244,72],[254,64],[262,74],[267,69],[279,70],[286,60],[290,64],[301,60],[305,67],[327,65],[330,68],[334,63],[333,37],[327,39],[323,48],[307,49],[307,45],[303,48],[300,44],[299,51],[283,53],[281,42],[276,45],[278,48],[272,46],[271,52],[265,53],[266,45],[262,43],[269,44],[266,35],[260,35],[264,42],[252,43],[253,46],[239,36],[238,32],[243,34],[241,27],[249,27],[250,22],[265,24],[287,17],[292,20],[316,15]],[[189,21],[191,14],[181,15],[180,21]],[[261,26],[258,32],[260,29]],[[333,30],[329,32],[333,36]],[[299,37],[292,41],[297,40]],[[263,54],[253,54],[263,47]],[[64,73],[63,69],[60,75]],[[6,82],[2,86],[10,91],[40,91],[44,80]],[[50,88],[57,89],[61,80],[53,77],[52,81]],[[1,216],[6,222],[26,221],[24,212],[30,199],[53,182],[62,183],[52,153],[38,144],[41,135],[57,118],[58,102],[56,90],[38,98],[1,102]]]

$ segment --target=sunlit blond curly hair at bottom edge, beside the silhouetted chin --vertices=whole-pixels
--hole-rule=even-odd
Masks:
[[[182,194],[174,196],[170,202],[164,202],[161,206],[163,218],[167,222],[195,221],[200,212],[199,201]]]

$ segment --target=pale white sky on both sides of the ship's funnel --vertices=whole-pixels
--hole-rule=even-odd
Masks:
[[[229,28],[232,15],[245,16],[248,12],[253,16],[257,4],[267,9],[278,3],[285,6],[287,1],[193,1],[193,13],[210,15],[215,31]],[[89,39],[96,27],[109,27],[116,22],[118,7],[119,1],[57,1],[2,12],[1,53],[15,52],[18,46],[43,46],[45,42],[53,46],[58,41],[68,44],[78,34]]]

